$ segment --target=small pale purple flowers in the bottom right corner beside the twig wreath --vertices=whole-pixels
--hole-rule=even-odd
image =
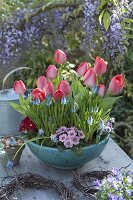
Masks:
[[[102,181],[96,180],[98,188],[96,199],[126,200],[132,199],[133,195],[133,173],[131,171],[121,172],[113,168],[112,173]]]

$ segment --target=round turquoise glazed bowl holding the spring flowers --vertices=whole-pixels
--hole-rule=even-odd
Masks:
[[[108,143],[109,137],[98,144],[83,147],[80,155],[71,150],[60,151],[58,148],[40,146],[34,142],[28,142],[31,152],[46,164],[58,168],[71,170],[82,167],[85,163],[97,158]]]

